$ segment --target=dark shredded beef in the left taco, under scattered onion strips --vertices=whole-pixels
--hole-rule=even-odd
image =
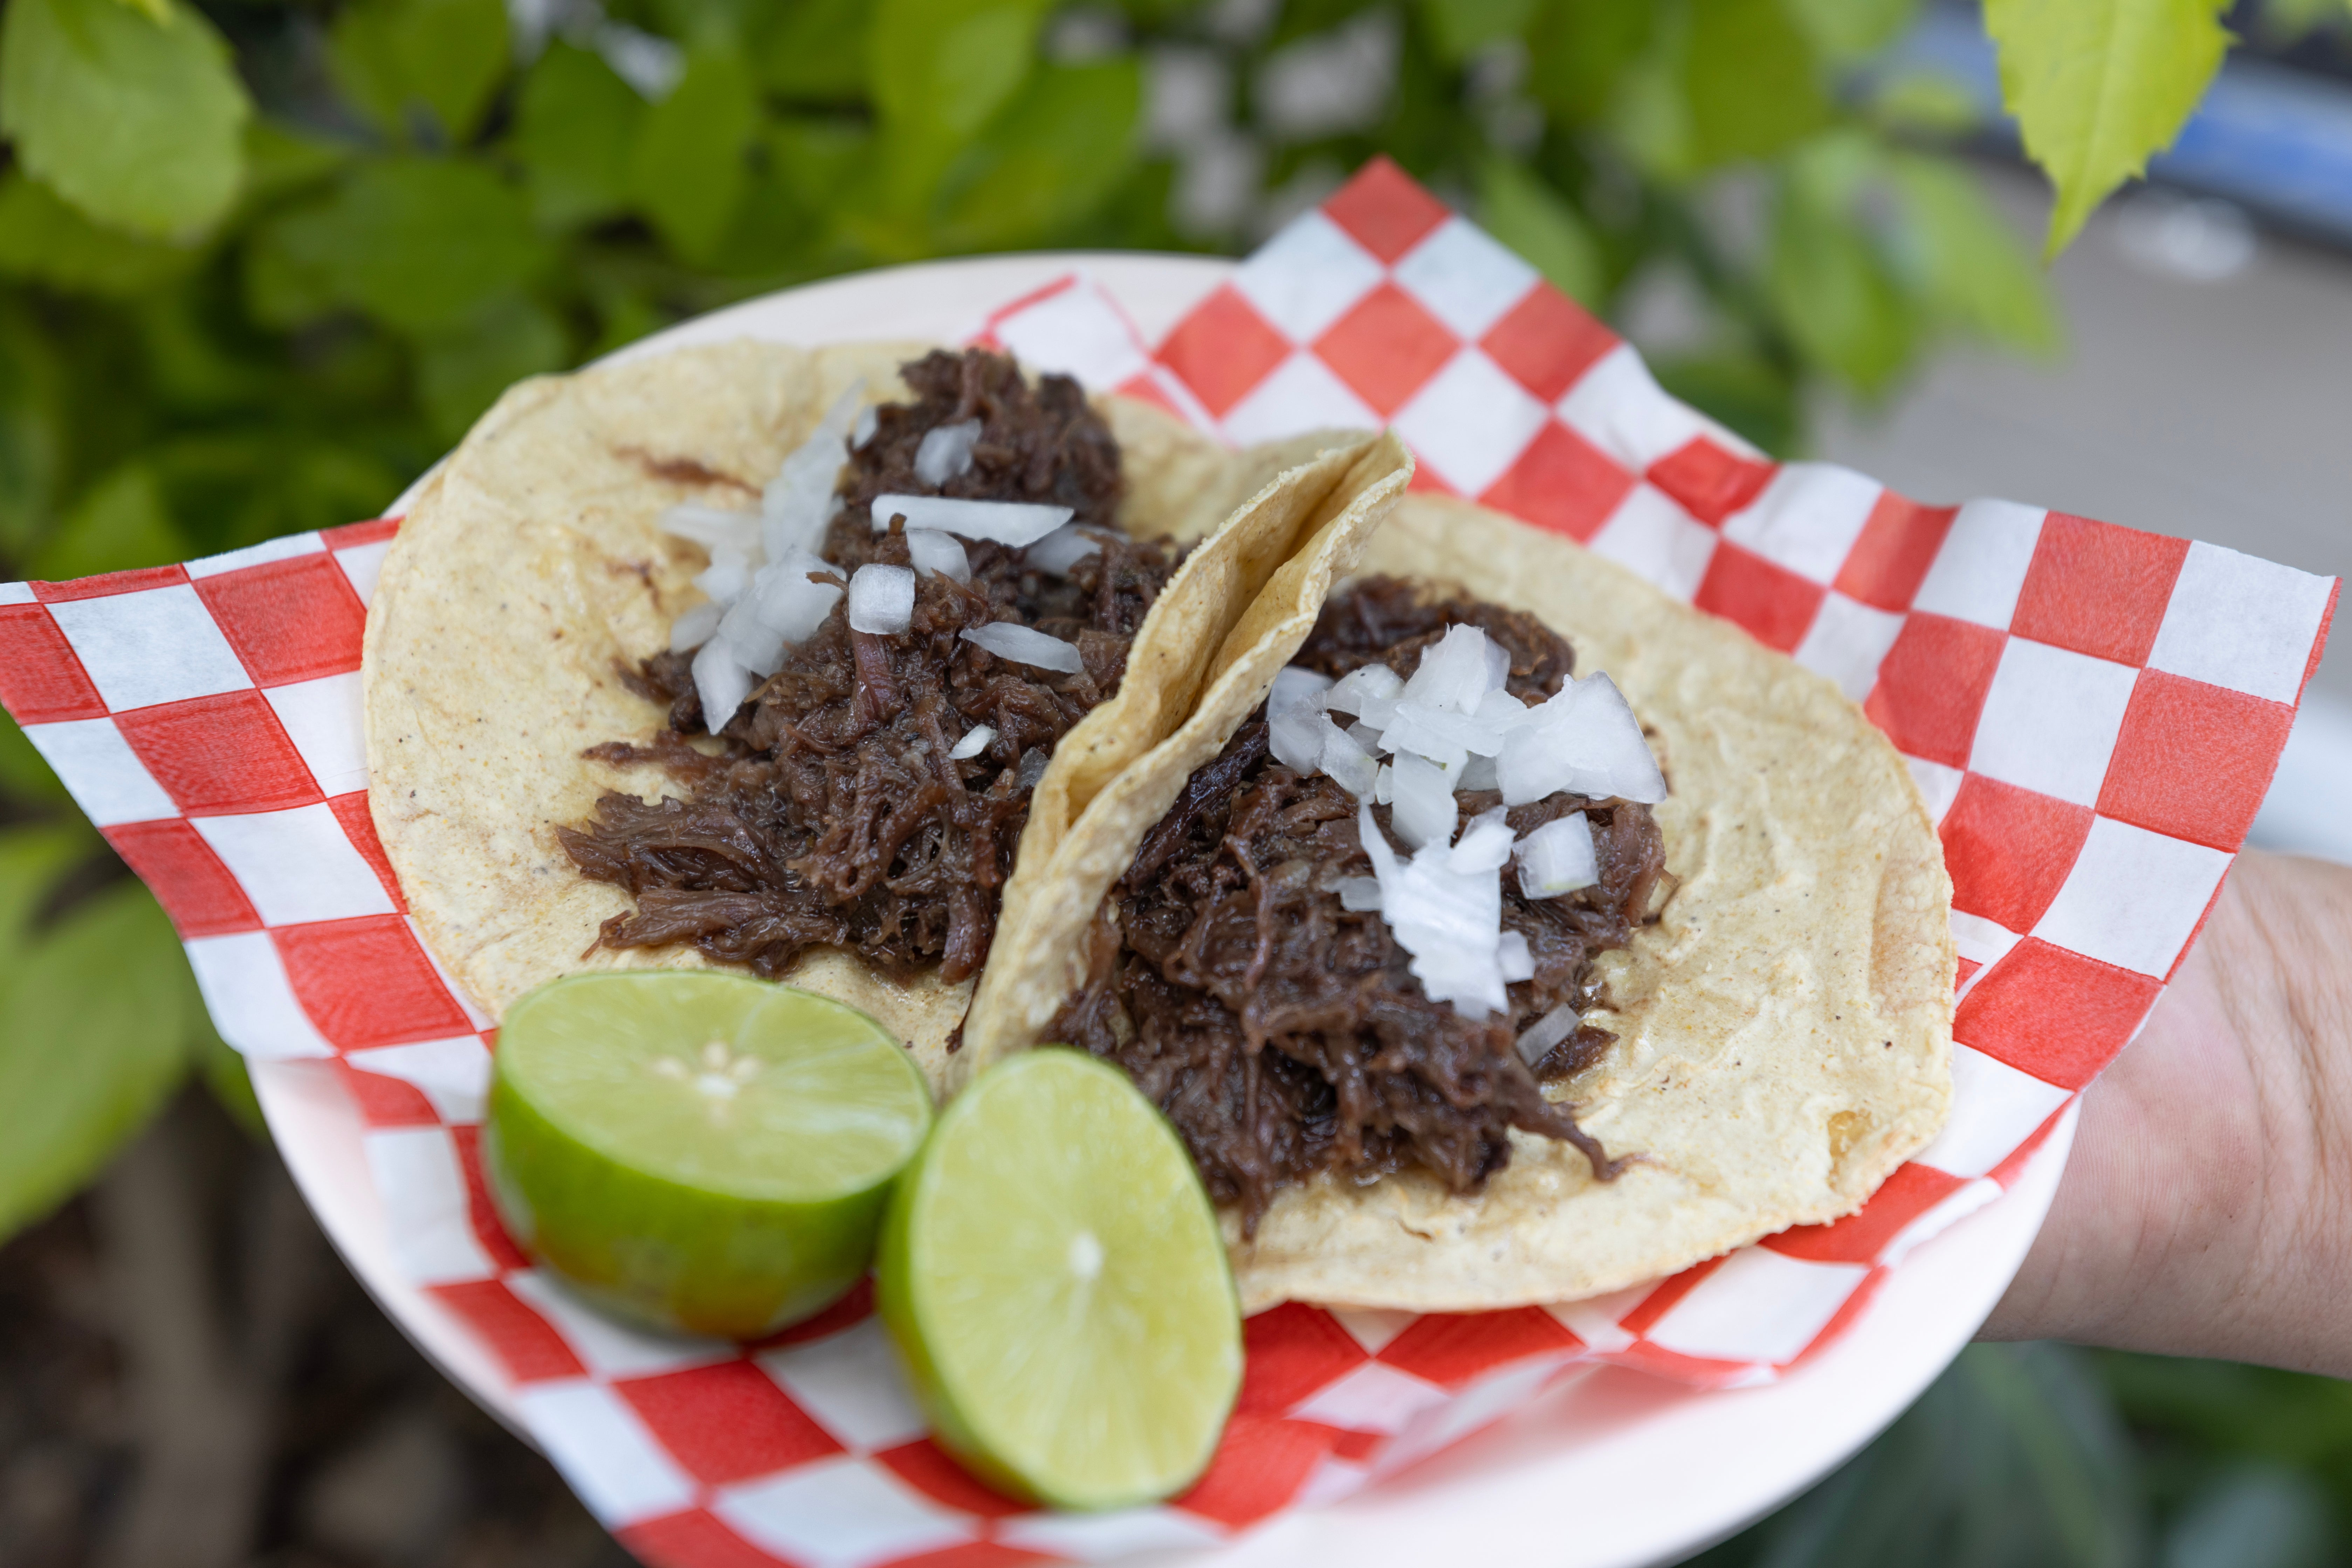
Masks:
[[[908,564],[906,534],[875,534],[880,494],[1049,501],[1075,522],[1110,524],[1120,449],[1065,376],[1030,390],[1011,360],[934,353],[901,376],[913,404],[875,411],[875,435],[844,473],[842,512],[823,557],[842,578],[868,562]],[[946,484],[915,477],[934,425],[978,418],[971,470]],[[1127,644],[1176,569],[1164,543],[1105,531],[1068,576],[1025,567],[1021,550],[967,541],[971,583],[915,581],[901,635],[851,632],[847,599],[741,710],[710,731],[691,656],[656,654],[623,670],[668,703],[652,745],[607,743],[602,762],[659,762],[684,785],[647,804],[604,795],[597,820],[557,837],[581,875],[626,886],[637,907],[604,922],[607,947],[691,943],[713,959],[786,973],[814,945],[854,947],[882,973],[938,966],[943,980],[978,971],[995,933],[1004,877],[1028,823],[1047,752],[1127,670]],[[1011,621],[1073,642],[1084,672],[1011,663],[957,637]],[[995,729],[967,759],[948,750],[974,724]]]

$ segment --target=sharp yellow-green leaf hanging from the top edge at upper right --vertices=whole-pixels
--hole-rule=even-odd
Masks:
[[[2044,259],[2173,143],[2230,33],[2225,0],[1985,0],[2002,101],[2058,188]]]

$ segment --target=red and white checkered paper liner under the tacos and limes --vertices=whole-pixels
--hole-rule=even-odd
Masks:
[[[360,630],[395,522],[0,588],[0,698],[155,889],[221,1034],[336,1065],[402,1262],[649,1563],[1211,1544],[1446,1446],[1576,1363],[1771,1380],[1910,1246],[1997,1197],[2138,1030],[2253,820],[2336,607],[2333,578],[2232,550],[1776,465],[1388,162],[1157,348],[1080,277],[1007,303],[981,341],[1230,442],[1388,423],[1421,487],[1566,534],[1837,679],[1943,830],[1952,1121],[1858,1215],[1613,1298],[1263,1312],[1192,1493],[1112,1516],[1023,1509],[929,1443],[863,1291],[757,1347],[656,1340],[574,1305],[501,1232],[475,1159],[489,1020],[419,943],[367,816]]]

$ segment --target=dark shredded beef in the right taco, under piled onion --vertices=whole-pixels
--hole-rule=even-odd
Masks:
[[[1510,691],[1559,691],[1573,656],[1534,616],[1468,597],[1435,597],[1367,578],[1324,609],[1294,663],[1345,675],[1388,661],[1411,675],[1421,649],[1468,623],[1512,658]],[[1623,947],[1646,917],[1665,849],[1649,806],[1552,795],[1508,813],[1515,835],[1585,811],[1597,886],[1566,898],[1519,893],[1503,867],[1503,929],[1519,931],[1536,978],[1510,987],[1510,1011],[1470,1020],[1432,1001],[1411,954],[1378,912],[1348,912],[1341,877],[1369,877],[1357,802],[1324,776],[1268,752],[1263,710],[1192,773],[1145,835],[1094,926],[1089,980],[1051,1025],[1134,1077],[1183,1133],[1211,1197],[1242,1208],[1244,1229],[1279,1187],[1319,1171],[1374,1180],[1409,1164],[1456,1192],[1510,1161],[1510,1128],[1562,1138],[1604,1180],[1616,1173],[1541,1079],[1590,1065],[1611,1037],[1581,1027],[1536,1070],[1519,1032],[1559,1004],[1599,999],[1592,957]],[[1463,818],[1501,804],[1465,792]],[[1388,806],[1374,806],[1388,830]]]

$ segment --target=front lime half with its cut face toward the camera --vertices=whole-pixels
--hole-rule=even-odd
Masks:
[[[1242,1312],[1176,1128],[1080,1051],[983,1072],[898,1180],[875,1300],[934,1436],[1065,1509],[1183,1490],[1242,1385]]]

